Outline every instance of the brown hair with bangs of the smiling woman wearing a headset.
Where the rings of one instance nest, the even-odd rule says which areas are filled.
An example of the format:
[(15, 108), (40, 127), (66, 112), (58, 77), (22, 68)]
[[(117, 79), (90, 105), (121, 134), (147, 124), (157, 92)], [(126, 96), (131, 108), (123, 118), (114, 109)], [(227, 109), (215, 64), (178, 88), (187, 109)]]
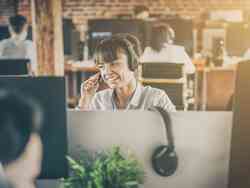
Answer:
[(118, 58), (118, 51), (121, 49), (128, 57), (129, 69), (134, 71), (138, 66), (138, 57), (133, 49), (133, 45), (122, 36), (113, 36), (102, 40), (95, 50), (95, 63), (101, 64), (102, 61), (107, 63), (115, 61)]

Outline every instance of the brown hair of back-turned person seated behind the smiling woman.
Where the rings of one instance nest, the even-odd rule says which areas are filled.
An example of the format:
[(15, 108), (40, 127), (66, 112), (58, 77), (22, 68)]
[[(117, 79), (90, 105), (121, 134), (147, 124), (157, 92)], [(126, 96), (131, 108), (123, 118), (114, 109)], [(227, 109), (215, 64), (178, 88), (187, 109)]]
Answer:
[(168, 42), (168, 39), (173, 39), (174, 34), (171, 33), (173, 29), (168, 24), (160, 24), (155, 25), (152, 28), (152, 33), (154, 34), (153, 37), (151, 37), (151, 47), (153, 50), (159, 52), (164, 47), (164, 43)]

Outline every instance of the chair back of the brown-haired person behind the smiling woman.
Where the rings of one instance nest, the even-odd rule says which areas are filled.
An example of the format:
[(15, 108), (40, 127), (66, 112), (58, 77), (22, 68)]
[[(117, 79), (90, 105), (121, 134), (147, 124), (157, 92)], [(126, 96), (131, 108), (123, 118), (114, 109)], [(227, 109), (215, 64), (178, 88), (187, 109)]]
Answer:
[(184, 64), (180, 63), (142, 63), (139, 68), (139, 80), (164, 90), (177, 110), (185, 110), (186, 76)]

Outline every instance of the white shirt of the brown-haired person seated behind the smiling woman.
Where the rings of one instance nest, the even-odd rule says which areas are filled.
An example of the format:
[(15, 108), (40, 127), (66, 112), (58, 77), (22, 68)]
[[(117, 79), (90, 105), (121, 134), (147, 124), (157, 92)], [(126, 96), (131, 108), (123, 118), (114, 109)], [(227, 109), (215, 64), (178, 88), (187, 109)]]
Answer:
[(184, 64), (184, 69), (187, 74), (195, 72), (195, 66), (188, 56), (183, 46), (164, 44), (160, 52), (154, 51), (151, 47), (146, 47), (141, 58), (141, 63), (176, 63)]

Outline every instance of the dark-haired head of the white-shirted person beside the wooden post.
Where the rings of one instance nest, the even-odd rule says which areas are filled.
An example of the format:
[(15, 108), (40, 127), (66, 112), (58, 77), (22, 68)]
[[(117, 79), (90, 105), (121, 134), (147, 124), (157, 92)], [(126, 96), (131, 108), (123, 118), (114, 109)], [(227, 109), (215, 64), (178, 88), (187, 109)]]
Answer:
[(11, 37), (17, 40), (25, 40), (28, 32), (28, 23), (25, 16), (15, 15), (9, 18), (9, 31)]

